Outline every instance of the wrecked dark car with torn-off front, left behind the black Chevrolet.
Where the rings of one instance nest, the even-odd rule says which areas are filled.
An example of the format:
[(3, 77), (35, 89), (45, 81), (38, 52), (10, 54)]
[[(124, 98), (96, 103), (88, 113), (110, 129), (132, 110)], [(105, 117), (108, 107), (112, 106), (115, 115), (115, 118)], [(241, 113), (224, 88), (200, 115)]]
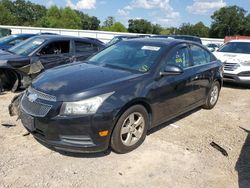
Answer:
[(46, 69), (82, 61), (103, 49), (104, 45), (88, 38), (38, 35), (0, 51), (0, 86), (3, 89), (26, 88)]

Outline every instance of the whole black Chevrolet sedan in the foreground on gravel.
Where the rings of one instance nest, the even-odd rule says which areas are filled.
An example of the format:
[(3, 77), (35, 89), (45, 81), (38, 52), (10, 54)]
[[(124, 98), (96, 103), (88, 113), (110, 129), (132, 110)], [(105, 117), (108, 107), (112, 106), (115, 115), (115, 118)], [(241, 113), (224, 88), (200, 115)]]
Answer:
[(149, 129), (199, 106), (213, 108), (222, 71), (222, 63), (198, 43), (123, 41), (86, 63), (41, 74), (21, 99), (21, 120), (35, 138), (58, 150), (111, 146), (126, 153)]

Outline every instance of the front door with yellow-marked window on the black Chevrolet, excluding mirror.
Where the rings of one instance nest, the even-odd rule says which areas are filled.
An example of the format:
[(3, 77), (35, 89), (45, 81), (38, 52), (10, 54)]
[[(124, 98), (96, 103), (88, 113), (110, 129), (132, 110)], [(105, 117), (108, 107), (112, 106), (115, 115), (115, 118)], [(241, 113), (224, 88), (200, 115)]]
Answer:
[(180, 75), (164, 76), (156, 81), (152, 93), (156, 124), (165, 122), (195, 103), (192, 83), (194, 72), (188, 45), (182, 44), (171, 50), (161, 65), (161, 71), (168, 64), (177, 65), (184, 72)]

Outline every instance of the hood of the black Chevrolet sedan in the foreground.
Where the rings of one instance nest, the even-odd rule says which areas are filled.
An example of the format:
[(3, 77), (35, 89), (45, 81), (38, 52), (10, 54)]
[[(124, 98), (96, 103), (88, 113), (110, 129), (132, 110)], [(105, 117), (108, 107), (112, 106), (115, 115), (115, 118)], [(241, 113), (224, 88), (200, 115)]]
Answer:
[(74, 63), (44, 72), (34, 80), (32, 87), (55, 96), (58, 101), (78, 101), (112, 92), (117, 83), (129, 81), (139, 75), (141, 74), (87, 63)]

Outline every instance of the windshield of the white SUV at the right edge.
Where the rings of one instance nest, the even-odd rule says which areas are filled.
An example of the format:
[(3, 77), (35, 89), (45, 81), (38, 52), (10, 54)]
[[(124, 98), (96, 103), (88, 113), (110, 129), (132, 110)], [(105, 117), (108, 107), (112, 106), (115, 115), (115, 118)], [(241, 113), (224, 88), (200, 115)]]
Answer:
[(228, 42), (218, 52), (250, 54), (250, 42)]

